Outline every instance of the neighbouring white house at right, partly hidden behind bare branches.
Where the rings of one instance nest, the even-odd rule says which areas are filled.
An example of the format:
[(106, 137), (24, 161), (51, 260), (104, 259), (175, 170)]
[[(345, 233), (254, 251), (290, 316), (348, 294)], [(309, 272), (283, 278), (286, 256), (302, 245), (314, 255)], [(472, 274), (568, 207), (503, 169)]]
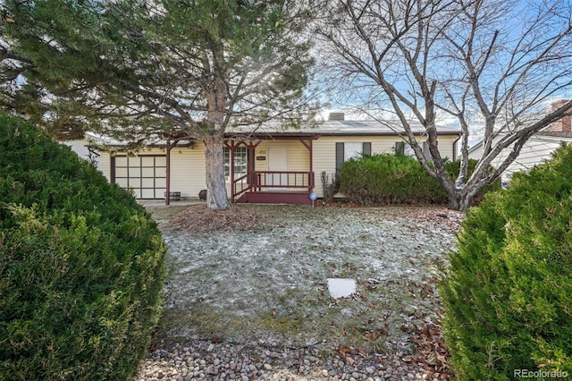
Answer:
[[(553, 105), (559, 106), (560, 103)], [(562, 143), (572, 144), (572, 123), (571, 117), (568, 115), (558, 122), (552, 123), (543, 131), (535, 133), (528, 141), (526, 141), (517, 159), (502, 173), (502, 182), (510, 182), (512, 174), (517, 172), (527, 172), (535, 165), (542, 164), (549, 160), (552, 153), (559, 148)], [(497, 136), (494, 142), (501, 140), (502, 135)], [(509, 155), (509, 150), (501, 152), (496, 157), (492, 166), (499, 165)], [(469, 149), (469, 157), (480, 159), (483, 156), (483, 143), (480, 142)]]

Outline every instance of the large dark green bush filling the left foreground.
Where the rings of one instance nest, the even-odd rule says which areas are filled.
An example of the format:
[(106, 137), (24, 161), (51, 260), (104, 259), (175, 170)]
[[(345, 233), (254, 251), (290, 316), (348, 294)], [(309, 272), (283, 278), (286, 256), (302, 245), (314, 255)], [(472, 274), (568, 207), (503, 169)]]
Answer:
[(165, 246), (128, 192), (0, 115), (0, 379), (127, 379), (160, 311)]

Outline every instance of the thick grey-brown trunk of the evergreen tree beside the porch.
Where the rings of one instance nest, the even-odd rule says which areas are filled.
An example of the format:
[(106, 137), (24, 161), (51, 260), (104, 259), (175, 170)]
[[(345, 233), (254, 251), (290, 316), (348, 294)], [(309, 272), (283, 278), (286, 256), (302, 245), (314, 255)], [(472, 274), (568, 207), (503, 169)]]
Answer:
[(224, 138), (222, 135), (208, 135), (203, 139), (206, 159), (206, 207), (228, 209), (231, 203), (226, 194), (224, 179)]

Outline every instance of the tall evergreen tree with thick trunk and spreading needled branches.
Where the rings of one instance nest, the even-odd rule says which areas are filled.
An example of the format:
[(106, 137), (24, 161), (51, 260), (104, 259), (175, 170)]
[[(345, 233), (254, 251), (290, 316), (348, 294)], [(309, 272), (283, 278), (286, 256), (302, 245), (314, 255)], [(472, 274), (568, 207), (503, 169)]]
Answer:
[[(308, 5), (309, 4), (309, 5)], [(4, 39), (29, 60), (52, 128), (134, 143), (200, 140), (207, 206), (230, 207), (224, 133), (310, 116), (311, 2), (5, 1)]]

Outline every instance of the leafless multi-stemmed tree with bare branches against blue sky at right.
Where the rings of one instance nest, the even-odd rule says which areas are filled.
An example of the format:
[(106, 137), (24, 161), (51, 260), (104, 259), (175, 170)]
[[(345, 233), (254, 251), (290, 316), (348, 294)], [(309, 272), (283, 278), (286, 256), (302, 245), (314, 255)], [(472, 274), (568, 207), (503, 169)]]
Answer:
[[(337, 0), (316, 23), (324, 66), (349, 103), (400, 121), (425, 171), (465, 210), (518, 156), (534, 133), (566, 114), (548, 105), (572, 89), (572, 9), (568, 1)], [(460, 140), (457, 179), (445, 173), (435, 123), (454, 118)], [(410, 123), (425, 127), (431, 158)], [(483, 155), (471, 176), (468, 144), (482, 127)], [(509, 150), (491, 170), (495, 157)]]

